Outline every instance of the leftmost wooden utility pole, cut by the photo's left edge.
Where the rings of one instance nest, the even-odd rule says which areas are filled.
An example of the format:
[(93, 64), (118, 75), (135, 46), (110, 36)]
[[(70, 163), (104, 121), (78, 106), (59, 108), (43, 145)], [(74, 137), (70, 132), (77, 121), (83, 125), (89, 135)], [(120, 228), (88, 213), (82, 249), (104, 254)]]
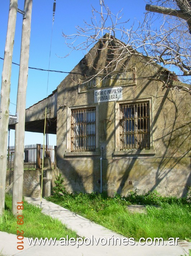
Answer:
[(10, 0), (7, 35), (5, 42), (5, 53), (1, 81), (0, 102), (0, 216), (5, 209), (5, 186), (7, 167), (7, 137), (9, 125), (9, 103), (10, 103), (10, 79), (13, 56), (13, 45), (15, 36), (15, 24), (17, 18), (17, 0)]

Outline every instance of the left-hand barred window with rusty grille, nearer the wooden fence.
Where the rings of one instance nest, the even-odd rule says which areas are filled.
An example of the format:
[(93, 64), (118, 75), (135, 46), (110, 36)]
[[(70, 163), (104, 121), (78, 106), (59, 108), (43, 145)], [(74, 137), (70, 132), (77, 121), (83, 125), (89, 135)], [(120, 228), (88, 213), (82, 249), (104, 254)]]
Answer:
[(95, 108), (71, 111), (71, 151), (95, 151)]

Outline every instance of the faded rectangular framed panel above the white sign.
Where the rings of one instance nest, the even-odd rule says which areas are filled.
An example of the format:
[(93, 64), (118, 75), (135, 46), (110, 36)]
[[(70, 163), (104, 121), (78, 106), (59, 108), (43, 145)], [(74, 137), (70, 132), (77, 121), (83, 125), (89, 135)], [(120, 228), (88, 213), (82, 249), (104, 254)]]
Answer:
[(125, 85), (135, 85), (135, 69), (126, 70), (125, 72), (115, 72), (107, 76), (99, 74), (92, 77), (82, 77), (79, 79), (78, 92)]

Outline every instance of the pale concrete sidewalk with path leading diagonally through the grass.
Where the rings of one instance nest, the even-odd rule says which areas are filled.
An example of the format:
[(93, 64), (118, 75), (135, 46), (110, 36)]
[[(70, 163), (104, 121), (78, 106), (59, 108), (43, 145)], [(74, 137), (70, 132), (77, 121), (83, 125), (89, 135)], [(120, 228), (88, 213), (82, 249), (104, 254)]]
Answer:
[[(40, 199), (25, 197), (25, 199), (32, 204), (40, 206)], [(69, 210), (58, 206), (52, 202), (42, 199), (42, 212), (46, 215), (50, 215), (53, 218), (59, 219), (63, 224), (66, 224), (68, 228), (76, 231), (79, 237), (90, 238), (91, 243), (89, 245), (79, 245), (77, 248), (75, 245), (61, 245), (58, 241), (54, 245), (29, 245), (27, 238), (24, 238), (24, 249), (17, 250), (17, 236), (0, 232), (0, 255), (12, 256), (12, 255), (24, 255), (24, 256), (59, 256), (59, 255), (75, 255), (75, 256), (94, 256), (94, 255), (111, 255), (111, 256), (180, 256), (188, 255), (188, 250), (191, 249), (191, 243), (186, 241), (179, 242), (178, 245), (169, 245), (168, 241), (164, 241), (164, 245), (141, 245), (139, 242), (135, 242), (134, 245), (123, 245), (123, 236), (108, 230), (101, 225), (95, 224), (82, 216), (79, 216)], [(92, 237), (93, 235), (93, 237)], [(103, 239), (102, 239), (103, 238)], [(110, 245), (104, 244), (108, 238), (110, 239)], [(112, 245), (112, 239), (121, 239), (121, 245), (119, 239), (117, 244)], [(54, 238), (53, 238), (54, 239)], [(94, 240), (93, 240), (94, 239)], [(96, 242), (98, 241), (96, 245)], [(93, 245), (92, 245), (93, 240)], [(125, 240), (126, 241), (126, 240)], [(79, 242), (81, 242), (79, 240)], [(86, 240), (88, 243), (89, 240)]]

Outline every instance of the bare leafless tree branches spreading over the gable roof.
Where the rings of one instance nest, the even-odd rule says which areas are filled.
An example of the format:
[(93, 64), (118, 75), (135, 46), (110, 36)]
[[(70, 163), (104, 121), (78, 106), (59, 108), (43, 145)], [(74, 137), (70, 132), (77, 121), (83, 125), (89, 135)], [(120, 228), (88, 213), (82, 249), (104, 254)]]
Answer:
[[(108, 58), (104, 66), (93, 66), (97, 71), (96, 75), (103, 75), (102, 79), (122, 67), (125, 70), (125, 63), (130, 62), (131, 56), (134, 55), (146, 61), (145, 65), (158, 63), (171, 71), (164, 69), (163, 74), (154, 75), (150, 79), (161, 81), (163, 87), (191, 93), (190, 85), (188, 85), (191, 75), (191, 36), (188, 29), (188, 26), (190, 28), (188, 19), (190, 1), (187, 1), (187, 7), (184, 6), (184, 9), (181, 7), (181, 14), (184, 13), (184, 18), (180, 17), (180, 12), (177, 11), (177, 4), (182, 6), (183, 0), (177, 0), (177, 4), (173, 0), (156, 1), (157, 4), (159, 2), (160, 9), (163, 8), (162, 6), (166, 9), (168, 6), (168, 10), (171, 9), (167, 16), (148, 11), (144, 21), (130, 25), (129, 20), (121, 21), (121, 11), (113, 14), (102, 0), (102, 11), (92, 7), (91, 22), (84, 21), (84, 27), (77, 26), (77, 31), (73, 35), (63, 34), (66, 44), (71, 50), (87, 50), (87, 52), (93, 45), (97, 53), (101, 49), (107, 49), (112, 58)], [(151, 10), (152, 6), (149, 6)], [(172, 9), (178, 14), (172, 16)], [(96, 54), (94, 51), (92, 53)], [(85, 82), (90, 79), (92, 76), (87, 77)], [(182, 82), (188, 84), (185, 85)]]

